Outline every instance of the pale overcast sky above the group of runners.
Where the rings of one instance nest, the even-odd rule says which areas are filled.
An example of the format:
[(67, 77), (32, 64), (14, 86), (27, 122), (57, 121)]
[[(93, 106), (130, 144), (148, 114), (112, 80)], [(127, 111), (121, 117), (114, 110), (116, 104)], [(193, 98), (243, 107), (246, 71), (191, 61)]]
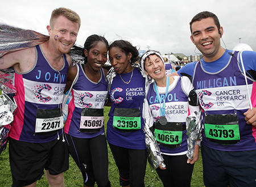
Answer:
[(80, 15), (76, 44), (82, 46), (86, 37), (98, 34), (110, 43), (128, 40), (141, 50), (149, 46), (162, 54), (199, 53), (189, 38), (189, 22), (197, 13), (208, 10), (218, 16), (224, 28), (222, 39), (226, 48), (233, 49), (241, 37), (242, 43), (256, 51), (255, 0), (5, 0), (0, 6), (0, 23), (48, 35), (46, 26), (51, 12), (59, 7), (70, 8)]

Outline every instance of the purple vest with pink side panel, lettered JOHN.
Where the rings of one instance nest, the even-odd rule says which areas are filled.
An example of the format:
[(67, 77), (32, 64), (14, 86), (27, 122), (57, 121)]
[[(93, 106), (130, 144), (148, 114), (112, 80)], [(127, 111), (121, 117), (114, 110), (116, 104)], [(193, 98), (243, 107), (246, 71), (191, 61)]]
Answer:
[(18, 90), (14, 99), (18, 109), (10, 137), (24, 142), (43, 143), (56, 139), (57, 132), (51, 135), (35, 134), (36, 113), (38, 109), (60, 108), (69, 65), (64, 54), (63, 68), (57, 71), (49, 65), (40, 45), (36, 45), (35, 49), (35, 67), (27, 73), (15, 73), (14, 76), (14, 86)]

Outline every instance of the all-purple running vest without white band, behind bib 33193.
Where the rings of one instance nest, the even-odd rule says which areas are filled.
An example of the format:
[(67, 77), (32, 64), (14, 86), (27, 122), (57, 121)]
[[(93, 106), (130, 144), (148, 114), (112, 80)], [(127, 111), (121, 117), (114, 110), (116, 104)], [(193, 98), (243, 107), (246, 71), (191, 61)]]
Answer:
[[(131, 72), (121, 74), (122, 79), (131, 82), (123, 83), (119, 74), (116, 74), (110, 87), (110, 99), (112, 107), (109, 112), (108, 128), (106, 131), (108, 142), (120, 147), (142, 150), (146, 148), (145, 135), (143, 132), (144, 121), (142, 118), (145, 79), (141, 72), (134, 68), (133, 77)], [(123, 132), (113, 128), (113, 116), (115, 108), (135, 108), (141, 111), (141, 129), (133, 132)], [(124, 114), (125, 115), (125, 114)]]

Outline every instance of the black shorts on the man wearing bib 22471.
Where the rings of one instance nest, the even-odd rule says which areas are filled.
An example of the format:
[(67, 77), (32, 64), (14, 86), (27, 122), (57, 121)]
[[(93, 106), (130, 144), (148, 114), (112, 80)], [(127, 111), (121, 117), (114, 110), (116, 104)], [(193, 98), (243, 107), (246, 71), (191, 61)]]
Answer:
[(44, 169), (51, 175), (68, 170), (67, 143), (57, 139), (47, 143), (30, 143), (10, 138), (9, 159), (13, 186), (26, 186), (39, 180)]

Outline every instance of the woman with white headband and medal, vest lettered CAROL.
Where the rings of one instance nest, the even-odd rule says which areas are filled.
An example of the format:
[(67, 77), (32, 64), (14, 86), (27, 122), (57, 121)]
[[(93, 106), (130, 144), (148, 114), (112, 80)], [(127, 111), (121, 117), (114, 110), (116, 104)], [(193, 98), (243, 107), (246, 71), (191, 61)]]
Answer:
[(199, 158), (199, 145), (192, 160), (186, 156), (185, 120), (189, 112), (199, 111), (197, 98), (188, 102), (193, 86), (186, 76), (167, 76), (159, 52), (143, 54), (141, 66), (154, 80), (146, 89), (143, 109), (149, 162), (164, 186), (190, 186), (193, 164)]

